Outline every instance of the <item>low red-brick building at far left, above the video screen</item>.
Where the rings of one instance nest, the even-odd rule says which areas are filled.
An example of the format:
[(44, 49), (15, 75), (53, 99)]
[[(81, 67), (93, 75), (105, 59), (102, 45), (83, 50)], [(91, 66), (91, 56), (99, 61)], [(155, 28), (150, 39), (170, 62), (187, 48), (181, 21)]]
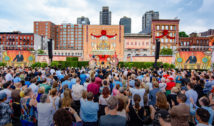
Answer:
[(0, 45), (3, 50), (33, 50), (34, 34), (21, 32), (0, 32)]

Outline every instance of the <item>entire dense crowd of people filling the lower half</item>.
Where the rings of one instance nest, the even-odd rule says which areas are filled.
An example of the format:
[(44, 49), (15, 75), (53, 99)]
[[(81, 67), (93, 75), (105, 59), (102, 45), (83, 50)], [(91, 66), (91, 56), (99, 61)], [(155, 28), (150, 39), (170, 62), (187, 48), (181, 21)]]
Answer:
[(0, 68), (0, 126), (211, 126), (212, 71)]

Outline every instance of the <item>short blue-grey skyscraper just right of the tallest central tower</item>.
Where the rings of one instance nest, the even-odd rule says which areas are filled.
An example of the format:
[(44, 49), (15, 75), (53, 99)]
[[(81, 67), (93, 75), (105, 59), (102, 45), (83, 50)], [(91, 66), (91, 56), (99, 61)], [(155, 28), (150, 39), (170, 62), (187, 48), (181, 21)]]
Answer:
[(131, 33), (131, 18), (124, 16), (120, 18), (120, 25), (124, 25), (124, 33)]

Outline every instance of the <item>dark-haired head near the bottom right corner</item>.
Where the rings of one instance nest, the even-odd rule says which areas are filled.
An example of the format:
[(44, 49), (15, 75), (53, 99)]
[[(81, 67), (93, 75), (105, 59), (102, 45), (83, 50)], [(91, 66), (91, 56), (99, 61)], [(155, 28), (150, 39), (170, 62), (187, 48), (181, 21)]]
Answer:
[(210, 119), (210, 113), (206, 109), (198, 108), (196, 110), (196, 118), (207, 123)]

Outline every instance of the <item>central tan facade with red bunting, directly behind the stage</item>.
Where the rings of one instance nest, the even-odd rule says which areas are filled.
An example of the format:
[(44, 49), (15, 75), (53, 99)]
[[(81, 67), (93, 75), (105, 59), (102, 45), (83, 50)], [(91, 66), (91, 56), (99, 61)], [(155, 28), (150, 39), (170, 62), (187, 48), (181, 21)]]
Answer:
[(95, 59), (96, 65), (109, 65), (112, 61), (123, 61), (124, 26), (84, 25), (83, 57), (85, 61)]

